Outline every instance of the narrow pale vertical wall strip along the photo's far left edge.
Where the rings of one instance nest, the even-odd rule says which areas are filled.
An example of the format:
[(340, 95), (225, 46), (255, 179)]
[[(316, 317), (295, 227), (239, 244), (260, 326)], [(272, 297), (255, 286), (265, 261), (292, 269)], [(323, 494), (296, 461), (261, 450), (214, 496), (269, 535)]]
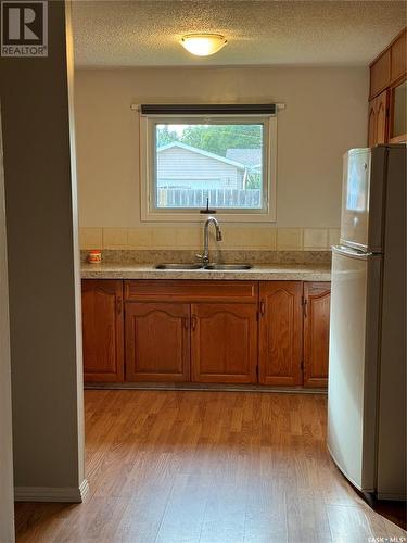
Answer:
[(0, 542), (14, 541), (9, 282), (0, 118)]

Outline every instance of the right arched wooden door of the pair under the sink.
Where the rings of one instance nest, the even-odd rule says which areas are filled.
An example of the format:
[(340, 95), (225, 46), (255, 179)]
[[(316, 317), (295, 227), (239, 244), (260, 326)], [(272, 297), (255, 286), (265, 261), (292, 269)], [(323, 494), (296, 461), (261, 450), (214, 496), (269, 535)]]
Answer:
[(257, 381), (255, 304), (192, 304), (191, 338), (192, 381)]

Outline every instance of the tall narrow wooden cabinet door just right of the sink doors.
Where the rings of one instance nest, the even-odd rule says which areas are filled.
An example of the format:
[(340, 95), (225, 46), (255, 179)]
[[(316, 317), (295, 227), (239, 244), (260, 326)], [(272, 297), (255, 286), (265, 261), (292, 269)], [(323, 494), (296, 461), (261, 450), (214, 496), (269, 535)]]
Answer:
[(302, 281), (262, 281), (258, 380), (302, 384)]

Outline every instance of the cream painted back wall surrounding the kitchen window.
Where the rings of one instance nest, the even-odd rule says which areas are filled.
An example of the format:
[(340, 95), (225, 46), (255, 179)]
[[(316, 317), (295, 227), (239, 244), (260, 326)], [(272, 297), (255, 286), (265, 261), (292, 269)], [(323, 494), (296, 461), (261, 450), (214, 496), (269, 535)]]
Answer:
[(342, 155), (366, 144), (367, 68), (78, 70), (75, 90), (81, 227), (151, 226), (140, 223), (131, 103), (270, 100), (287, 103), (278, 116), (274, 226), (339, 227)]

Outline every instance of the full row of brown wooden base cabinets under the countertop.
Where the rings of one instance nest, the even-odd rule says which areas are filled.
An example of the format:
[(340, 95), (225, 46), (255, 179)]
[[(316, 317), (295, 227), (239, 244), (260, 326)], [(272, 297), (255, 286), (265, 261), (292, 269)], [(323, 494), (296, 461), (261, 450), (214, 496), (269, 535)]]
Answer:
[(85, 381), (326, 387), (329, 299), (328, 282), (84, 280)]

